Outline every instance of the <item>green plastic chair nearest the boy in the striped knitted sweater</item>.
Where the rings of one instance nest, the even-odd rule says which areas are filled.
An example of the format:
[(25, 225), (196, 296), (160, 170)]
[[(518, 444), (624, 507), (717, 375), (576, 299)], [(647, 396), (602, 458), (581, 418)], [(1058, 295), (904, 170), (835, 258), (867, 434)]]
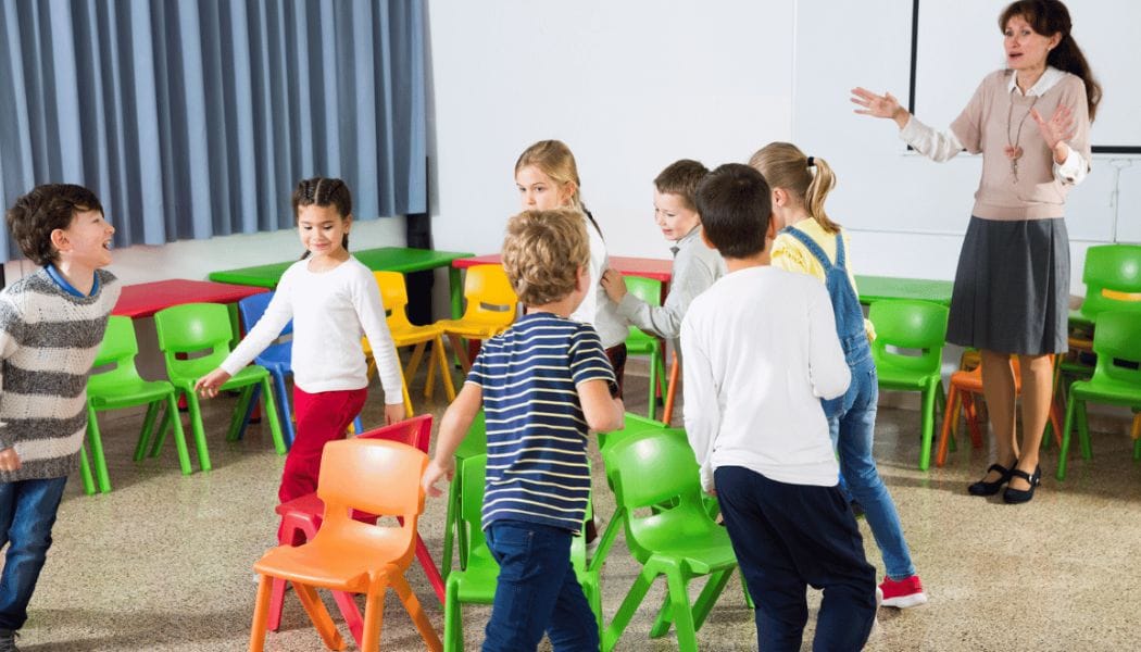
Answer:
[[(113, 367), (92, 372), (87, 381), (87, 440), (95, 458), (95, 476), (99, 484), (99, 491), (103, 493), (111, 491), (111, 477), (107, 474), (107, 460), (103, 453), (103, 435), (99, 432), (98, 412), (135, 405), (147, 407), (146, 417), (143, 419), (143, 429), (139, 432), (138, 445), (135, 448), (135, 461), (143, 459), (162, 404), (165, 403), (167, 412), (160, 428), (165, 429), (171, 421), (171, 414), (178, 414), (175, 386), (165, 380), (152, 381), (139, 377), (138, 369), (135, 367), (135, 357), (138, 353), (139, 345), (135, 339), (135, 324), (130, 317), (112, 316), (108, 319), (107, 330), (103, 335), (99, 352), (95, 355), (92, 369)], [(189, 474), (191, 458), (186, 450), (183, 424), (180, 420), (173, 419), (173, 426), (178, 462), (183, 468), (183, 474)], [(84, 467), (88, 467), (87, 451), (83, 451), (81, 457), (81, 476), (83, 492), (90, 496), (95, 493), (95, 486), (91, 482), (90, 470), (86, 474), (82, 473)]]

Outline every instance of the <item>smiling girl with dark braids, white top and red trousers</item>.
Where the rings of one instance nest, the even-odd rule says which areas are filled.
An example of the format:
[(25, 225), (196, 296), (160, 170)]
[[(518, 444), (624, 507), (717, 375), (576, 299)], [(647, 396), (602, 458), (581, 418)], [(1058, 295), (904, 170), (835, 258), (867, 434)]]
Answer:
[(305, 179), (293, 191), (305, 253), (282, 274), (261, 320), (221, 365), (194, 388), (215, 396), (293, 320), (293, 409), (297, 438), (285, 458), (277, 498), (317, 490), (321, 451), (345, 436), (369, 395), (361, 331), (369, 336), (385, 388), (385, 422), (404, 419), (399, 360), (372, 272), (348, 252), (353, 198), (340, 179)]

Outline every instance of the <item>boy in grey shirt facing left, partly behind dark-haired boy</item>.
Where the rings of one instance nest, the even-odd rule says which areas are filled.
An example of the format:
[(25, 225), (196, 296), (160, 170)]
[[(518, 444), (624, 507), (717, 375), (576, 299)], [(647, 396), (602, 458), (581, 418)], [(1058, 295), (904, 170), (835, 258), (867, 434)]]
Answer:
[(663, 305), (650, 306), (626, 292), (626, 282), (617, 269), (607, 269), (602, 275), (602, 288), (617, 304), (618, 315), (647, 332), (673, 340), (674, 351), (689, 303), (726, 271), (725, 259), (702, 239), (702, 216), (694, 201), (697, 184), (707, 172), (697, 161), (682, 159), (654, 179), (654, 220), (666, 240), (674, 241), (670, 248), (673, 251), (670, 293)]

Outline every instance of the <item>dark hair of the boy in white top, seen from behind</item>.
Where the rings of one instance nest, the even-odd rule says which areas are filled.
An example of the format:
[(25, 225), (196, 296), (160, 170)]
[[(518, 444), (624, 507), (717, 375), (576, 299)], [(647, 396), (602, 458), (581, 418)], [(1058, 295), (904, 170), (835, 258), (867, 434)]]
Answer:
[(726, 163), (697, 186), (697, 212), (705, 238), (726, 258), (747, 258), (764, 251), (772, 217), (772, 198), (760, 172), (742, 163)]

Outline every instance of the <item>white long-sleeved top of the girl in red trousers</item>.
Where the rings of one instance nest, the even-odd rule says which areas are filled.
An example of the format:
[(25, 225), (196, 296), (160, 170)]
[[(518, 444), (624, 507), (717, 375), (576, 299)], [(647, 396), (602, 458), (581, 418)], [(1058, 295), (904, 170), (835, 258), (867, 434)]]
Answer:
[(404, 401), (400, 368), (388, 331), (380, 288), (372, 271), (349, 257), (327, 272), (298, 260), (282, 274), (265, 315), (234, 348), (221, 368), (234, 375), (250, 363), (293, 320), (293, 383), (310, 394), (369, 386), (361, 347), (369, 337), (385, 403)]

